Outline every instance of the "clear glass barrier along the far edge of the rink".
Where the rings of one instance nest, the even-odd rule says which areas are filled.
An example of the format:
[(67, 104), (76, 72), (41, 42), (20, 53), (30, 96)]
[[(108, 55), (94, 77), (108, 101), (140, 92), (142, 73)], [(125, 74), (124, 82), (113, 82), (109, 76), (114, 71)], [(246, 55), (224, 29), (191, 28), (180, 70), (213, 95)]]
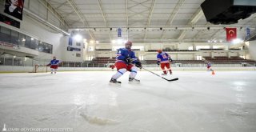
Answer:
[[(0, 56), (0, 66), (45, 66), (49, 64), (50, 60), (34, 60), (32, 58), (22, 58), (22, 57), (2, 57)], [(86, 62), (62, 62), (59, 64), (60, 67), (110, 67), (114, 62), (106, 63), (94, 63), (92, 61)], [(142, 66), (145, 67), (158, 67), (155, 64), (146, 64), (145, 61), (142, 61)], [(172, 62), (172, 67), (205, 67), (205, 63), (193, 63), (193, 62)], [(215, 67), (234, 67), (234, 66), (256, 66), (256, 62), (243, 62), (243, 63), (212, 63), (212, 66)]]

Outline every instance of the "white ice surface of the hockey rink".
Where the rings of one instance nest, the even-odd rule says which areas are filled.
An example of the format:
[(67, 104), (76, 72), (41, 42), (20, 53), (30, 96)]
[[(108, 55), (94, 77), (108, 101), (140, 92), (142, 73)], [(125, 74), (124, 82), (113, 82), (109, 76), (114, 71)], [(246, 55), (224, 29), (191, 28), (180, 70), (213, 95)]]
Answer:
[[(160, 71), (155, 71), (160, 74)], [(115, 71), (0, 74), (0, 129), (74, 132), (255, 132), (256, 71), (147, 71), (109, 85)]]

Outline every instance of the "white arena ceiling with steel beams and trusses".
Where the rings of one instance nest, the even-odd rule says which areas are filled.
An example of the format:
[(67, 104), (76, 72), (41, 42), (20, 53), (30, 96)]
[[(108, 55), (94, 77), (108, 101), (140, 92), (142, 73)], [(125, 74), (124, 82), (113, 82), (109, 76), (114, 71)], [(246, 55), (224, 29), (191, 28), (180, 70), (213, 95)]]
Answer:
[[(65, 30), (80, 32), (100, 43), (123, 39), (133, 42), (222, 42), (225, 27), (237, 27), (244, 39), (246, 27), (255, 31), (256, 15), (234, 25), (206, 22), (204, 0), (46, 0), (65, 23)], [(118, 37), (118, 28), (122, 37)]]

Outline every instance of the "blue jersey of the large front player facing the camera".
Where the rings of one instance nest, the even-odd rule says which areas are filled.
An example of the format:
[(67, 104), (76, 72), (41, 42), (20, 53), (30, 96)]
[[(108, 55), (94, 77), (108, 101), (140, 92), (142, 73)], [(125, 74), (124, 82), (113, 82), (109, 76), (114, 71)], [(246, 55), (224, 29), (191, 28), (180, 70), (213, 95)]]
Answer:
[(128, 50), (126, 48), (118, 49), (117, 57), (115, 58), (115, 62), (126, 62), (126, 58), (133, 58), (132, 63), (138, 62), (137, 58), (135, 57), (135, 53), (133, 50)]

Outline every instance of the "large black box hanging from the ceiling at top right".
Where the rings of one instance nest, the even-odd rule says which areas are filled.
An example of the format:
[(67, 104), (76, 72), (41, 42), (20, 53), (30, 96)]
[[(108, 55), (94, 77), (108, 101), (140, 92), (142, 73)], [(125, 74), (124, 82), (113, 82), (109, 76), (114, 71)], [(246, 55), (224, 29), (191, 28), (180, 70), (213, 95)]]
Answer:
[(206, 0), (201, 8), (207, 22), (234, 24), (256, 12), (255, 0)]

